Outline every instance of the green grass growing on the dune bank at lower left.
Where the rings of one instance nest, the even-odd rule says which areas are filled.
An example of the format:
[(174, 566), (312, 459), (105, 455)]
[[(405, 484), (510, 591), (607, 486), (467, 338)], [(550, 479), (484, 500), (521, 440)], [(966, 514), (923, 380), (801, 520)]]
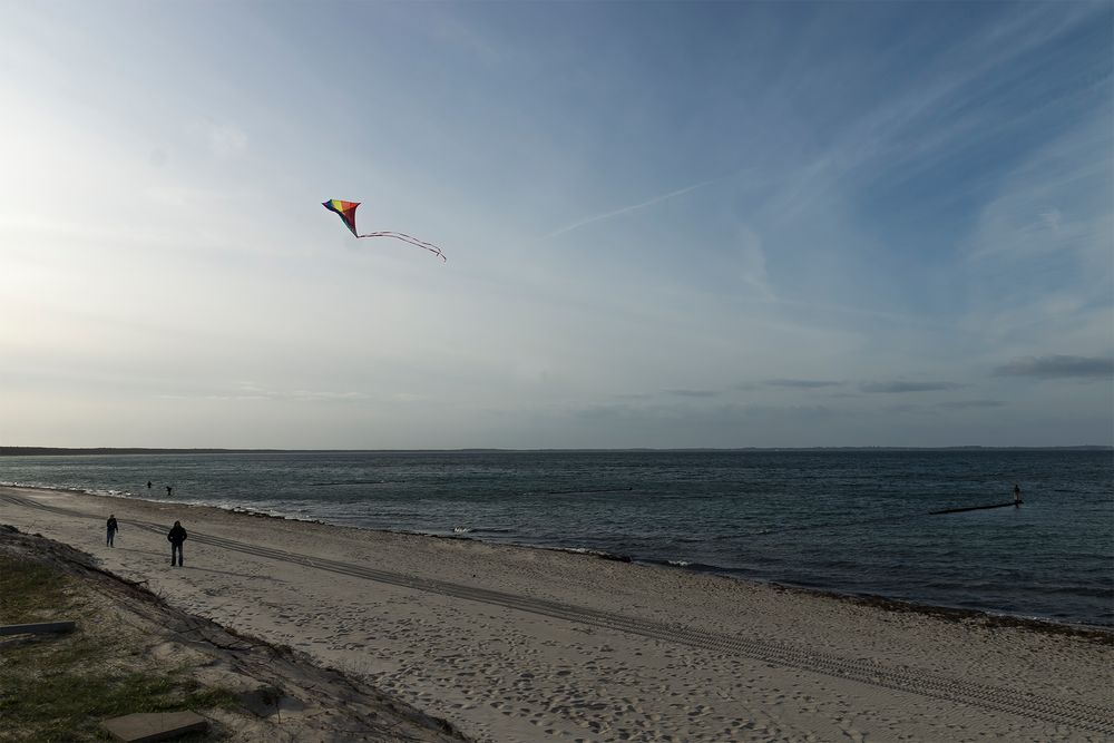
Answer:
[[(0, 555), (4, 624), (87, 617), (96, 607), (82, 590), (61, 571)], [(0, 741), (105, 741), (99, 723), (110, 717), (240, 706), (231, 691), (201, 686), (190, 666), (154, 666), (146, 649), (121, 645), (110, 629), (90, 636), (81, 623), (69, 635), (0, 644)]]

